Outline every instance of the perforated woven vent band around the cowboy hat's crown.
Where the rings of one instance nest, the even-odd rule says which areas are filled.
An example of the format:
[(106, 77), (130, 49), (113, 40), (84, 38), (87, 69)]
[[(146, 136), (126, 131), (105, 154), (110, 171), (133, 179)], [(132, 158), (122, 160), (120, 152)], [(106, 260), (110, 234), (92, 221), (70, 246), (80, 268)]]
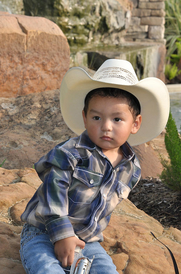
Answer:
[(129, 70), (120, 67), (102, 68), (95, 73), (93, 78), (95, 80), (101, 80), (105, 78), (119, 78), (129, 82), (132, 85), (138, 82), (136, 77)]

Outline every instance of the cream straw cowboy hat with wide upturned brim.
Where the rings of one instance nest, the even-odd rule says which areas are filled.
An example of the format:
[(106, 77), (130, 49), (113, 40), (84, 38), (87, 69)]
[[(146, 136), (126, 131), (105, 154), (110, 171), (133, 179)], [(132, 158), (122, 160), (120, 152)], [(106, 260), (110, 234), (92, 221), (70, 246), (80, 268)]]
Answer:
[(136, 134), (130, 134), (128, 142), (136, 146), (158, 136), (166, 126), (169, 116), (169, 93), (166, 85), (157, 78), (138, 81), (128, 61), (108, 59), (90, 77), (84, 69), (75, 67), (66, 72), (60, 87), (60, 107), (66, 125), (76, 134), (84, 130), (82, 110), (90, 90), (114, 87), (132, 93), (140, 103), (142, 124)]

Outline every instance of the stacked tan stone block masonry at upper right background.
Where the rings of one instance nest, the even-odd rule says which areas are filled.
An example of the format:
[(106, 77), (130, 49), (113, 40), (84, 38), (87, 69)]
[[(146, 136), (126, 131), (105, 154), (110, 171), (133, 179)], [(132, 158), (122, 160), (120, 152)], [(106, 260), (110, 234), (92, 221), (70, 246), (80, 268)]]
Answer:
[(127, 41), (155, 40), (165, 44), (165, 0), (133, 1)]

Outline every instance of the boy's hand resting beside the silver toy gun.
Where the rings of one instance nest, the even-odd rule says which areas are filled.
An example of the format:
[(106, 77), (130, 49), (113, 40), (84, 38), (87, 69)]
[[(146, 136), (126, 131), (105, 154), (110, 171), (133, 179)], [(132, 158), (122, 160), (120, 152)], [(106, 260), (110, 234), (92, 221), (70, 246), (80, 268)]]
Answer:
[(77, 237), (68, 237), (56, 241), (54, 246), (55, 256), (62, 263), (63, 267), (71, 266), (74, 260), (75, 247), (79, 246), (84, 249), (85, 242), (79, 240)]

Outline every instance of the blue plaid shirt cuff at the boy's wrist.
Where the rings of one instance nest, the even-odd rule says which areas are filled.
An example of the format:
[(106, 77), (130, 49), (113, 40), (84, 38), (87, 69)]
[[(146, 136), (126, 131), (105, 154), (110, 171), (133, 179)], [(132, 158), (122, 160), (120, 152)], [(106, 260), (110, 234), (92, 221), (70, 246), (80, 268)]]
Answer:
[(75, 236), (72, 224), (68, 216), (58, 217), (58, 216), (48, 216), (49, 218), (45, 220), (45, 227), (49, 233), (50, 239), (54, 244), (64, 238)]

